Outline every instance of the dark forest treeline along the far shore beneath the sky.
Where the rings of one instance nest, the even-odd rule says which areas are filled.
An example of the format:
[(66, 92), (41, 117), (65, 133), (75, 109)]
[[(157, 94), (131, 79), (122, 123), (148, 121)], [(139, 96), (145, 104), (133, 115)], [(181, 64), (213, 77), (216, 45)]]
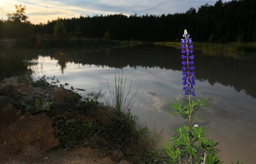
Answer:
[[(170, 6), (171, 7), (171, 6)], [(25, 10), (25, 9), (24, 9)], [(10, 13), (9, 13), (10, 14)], [(23, 11), (25, 14), (25, 11)], [(106, 38), (111, 40), (180, 41), (184, 29), (196, 42), (255, 42), (256, 0), (232, 0), (168, 15), (80, 16), (32, 24), (23, 15), (0, 20), (0, 39)]]

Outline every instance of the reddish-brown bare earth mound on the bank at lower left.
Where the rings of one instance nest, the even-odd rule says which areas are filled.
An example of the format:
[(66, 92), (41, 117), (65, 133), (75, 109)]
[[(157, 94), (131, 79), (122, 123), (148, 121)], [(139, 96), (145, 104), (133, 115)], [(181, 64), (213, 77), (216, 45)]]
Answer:
[(59, 144), (53, 132), (52, 119), (45, 114), (20, 116), (11, 125), (1, 130), (0, 141), (1, 144), (5, 143), (5, 146), (14, 149), (32, 145), (42, 150), (49, 150)]

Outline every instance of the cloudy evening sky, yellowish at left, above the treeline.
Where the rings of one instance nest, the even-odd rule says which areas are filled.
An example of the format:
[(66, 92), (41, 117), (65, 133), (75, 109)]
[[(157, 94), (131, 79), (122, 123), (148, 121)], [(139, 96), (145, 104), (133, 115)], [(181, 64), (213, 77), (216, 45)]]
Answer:
[[(191, 7), (214, 5), (217, 0), (0, 0), (0, 19), (15, 12), (15, 5), (26, 6), (26, 16), (32, 24), (47, 23), (59, 18), (107, 16), (120, 14), (156, 15), (185, 13)], [(222, 0), (228, 2), (231, 0)]]

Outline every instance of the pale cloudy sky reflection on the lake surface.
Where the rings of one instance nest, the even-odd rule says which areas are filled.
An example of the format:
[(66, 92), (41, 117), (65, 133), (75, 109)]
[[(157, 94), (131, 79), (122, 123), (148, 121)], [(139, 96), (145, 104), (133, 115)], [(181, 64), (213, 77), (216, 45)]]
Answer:
[[(107, 81), (110, 88), (114, 89), (115, 73), (118, 74), (118, 70), (107, 66), (81, 65), (72, 62), (66, 63), (65, 72), (62, 74), (60, 67), (56, 66), (56, 60), (39, 57), (38, 61), (43, 61), (41, 72), (46, 73), (48, 77), (56, 76), (62, 84), (69, 83), (68, 89), (70, 86), (88, 91), (92, 90), (92, 87), (95, 90), (101, 88), (103, 92), (107, 91), (106, 96), (109, 96)], [(131, 94), (135, 93), (140, 86), (132, 114), (139, 116), (141, 123), (146, 120), (151, 128), (156, 122), (159, 129), (165, 130), (164, 139), (171, 137), (170, 131), (173, 126), (184, 123), (182, 118), (167, 115), (172, 112), (171, 103), (187, 100), (182, 90), (181, 72), (160, 68), (145, 69), (139, 66), (125, 67), (120, 70), (121, 74), (122, 72), (124, 77), (127, 76), (127, 86), (132, 81)], [(256, 106), (255, 98), (246, 95), (243, 90), (238, 92), (230, 86), (219, 83), (210, 85), (207, 80), (197, 81), (195, 87), (199, 98), (212, 97), (209, 102), (212, 106), (201, 110), (197, 116), (201, 120), (199, 126), (201, 124), (208, 127), (207, 135), (214, 141), (219, 141), (218, 148), (225, 152), (219, 153), (219, 156), (227, 163), (234, 161), (231, 155), (239, 156), (240, 159), (237, 160), (244, 162), (246, 158), (252, 157), (256, 152), (256, 111), (253, 110)], [(197, 99), (197, 96), (194, 99)], [(241, 140), (243, 142), (239, 142)], [(251, 143), (253, 141), (254, 145)], [(247, 155), (243, 150), (249, 150)]]

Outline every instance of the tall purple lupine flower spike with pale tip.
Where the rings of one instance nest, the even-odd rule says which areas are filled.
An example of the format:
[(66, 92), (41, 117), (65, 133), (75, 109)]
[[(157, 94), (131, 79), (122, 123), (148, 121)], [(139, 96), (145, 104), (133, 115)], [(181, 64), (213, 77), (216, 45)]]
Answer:
[(182, 75), (183, 75), (183, 82), (184, 85), (183, 90), (185, 91), (185, 95), (193, 95), (195, 96), (195, 89), (194, 85), (196, 85), (195, 80), (195, 71), (193, 71), (196, 67), (194, 66), (193, 59), (195, 58), (194, 55), (192, 55), (193, 51), (193, 45), (192, 45), (192, 38), (190, 38), (190, 35), (187, 34), (187, 30), (184, 30), (183, 34), (184, 39), (181, 39), (181, 58), (184, 60), (181, 62), (182, 64)]

